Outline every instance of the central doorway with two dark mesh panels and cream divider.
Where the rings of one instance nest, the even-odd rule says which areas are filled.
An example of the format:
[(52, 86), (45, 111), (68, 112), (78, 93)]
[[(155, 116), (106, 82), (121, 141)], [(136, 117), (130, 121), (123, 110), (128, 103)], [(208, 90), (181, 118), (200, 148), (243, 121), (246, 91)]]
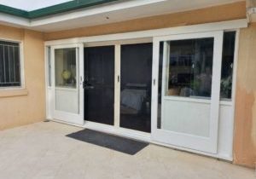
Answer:
[(153, 43), (84, 48), (84, 120), (151, 131), (152, 50)]

